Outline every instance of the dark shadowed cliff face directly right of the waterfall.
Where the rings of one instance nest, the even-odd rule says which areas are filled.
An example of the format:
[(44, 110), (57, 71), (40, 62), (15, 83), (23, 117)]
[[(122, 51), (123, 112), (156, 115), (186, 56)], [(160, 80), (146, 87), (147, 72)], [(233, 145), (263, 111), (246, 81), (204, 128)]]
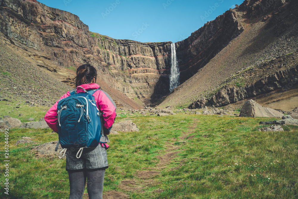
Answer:
[(177, 42), (177, 59), (181, 82), (186, 81), (206, 65), (229, 42), (243, 32), (235, 10), (228, 10), (206, 23), (183, 41)]

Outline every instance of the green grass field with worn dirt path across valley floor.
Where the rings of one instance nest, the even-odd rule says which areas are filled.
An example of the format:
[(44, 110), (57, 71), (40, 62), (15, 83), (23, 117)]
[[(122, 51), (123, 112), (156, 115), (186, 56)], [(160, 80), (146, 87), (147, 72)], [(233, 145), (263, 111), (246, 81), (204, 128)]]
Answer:
[[(39, 118), (44, 107), (34, 108), (28, 107), (30, 117)], [(259, 132), (259, 122), (271, 118), (182, 113), (116, 122), (125, 119), (140, 131), (109, 136), (104, 198), (297, 198), (297, 126)], [(51, 132), (9, 129), (9, 177), (4, 176), (1, 133), (1, 198), (68, 198), (65, 159), (37, 158), (31, 151), (33, 145), (58, 140)], [(15, 146), (22, 136), (37, 144)], [(5, 178), (9, 195), (4, 194)]]

